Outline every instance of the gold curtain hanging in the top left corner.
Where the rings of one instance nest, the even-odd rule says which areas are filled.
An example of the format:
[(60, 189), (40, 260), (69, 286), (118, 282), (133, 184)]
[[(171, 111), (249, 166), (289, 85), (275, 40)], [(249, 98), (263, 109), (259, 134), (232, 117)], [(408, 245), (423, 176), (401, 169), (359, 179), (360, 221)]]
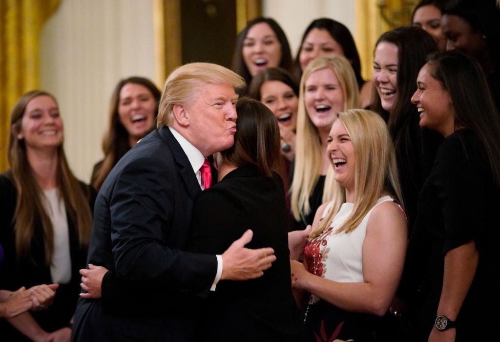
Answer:
[(10, 110), (38, 87), (38, 38), (60, 0), (0, 0), (0, 172), (8, 168)]

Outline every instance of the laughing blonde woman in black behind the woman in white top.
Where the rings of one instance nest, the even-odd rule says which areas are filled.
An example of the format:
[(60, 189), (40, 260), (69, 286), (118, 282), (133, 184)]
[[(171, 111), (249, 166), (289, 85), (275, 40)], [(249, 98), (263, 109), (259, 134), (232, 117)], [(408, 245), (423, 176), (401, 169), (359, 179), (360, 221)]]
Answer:
[(347, 59), (325, 55), (307, 65), (300, 80), (291, 172), (293, 230), (311, 224), (318, 206), (331, 199), (333, 170), (325, 152), (328, 132), (338, 112), (358, 107), (356, 77)]

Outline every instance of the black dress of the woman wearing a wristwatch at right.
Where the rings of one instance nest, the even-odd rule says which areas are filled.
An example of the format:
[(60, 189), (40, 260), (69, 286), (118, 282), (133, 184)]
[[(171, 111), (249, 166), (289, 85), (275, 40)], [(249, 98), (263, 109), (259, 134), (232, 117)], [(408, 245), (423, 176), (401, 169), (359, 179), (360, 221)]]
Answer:
[[(418, 216), (405, 265), (406, 299), (417, 340), (427, 340), (442, 289), (444, 255), (470, 240), (479, 251), (472, 284), (456, 318), (456, 340), (494, 340), (500, 304), (496, 253), (500, 191), (493, 183), (484, 146), (469, 129), (439, 147), (418, 198)], [(490, 335), (492, 334), (492, 335)]]

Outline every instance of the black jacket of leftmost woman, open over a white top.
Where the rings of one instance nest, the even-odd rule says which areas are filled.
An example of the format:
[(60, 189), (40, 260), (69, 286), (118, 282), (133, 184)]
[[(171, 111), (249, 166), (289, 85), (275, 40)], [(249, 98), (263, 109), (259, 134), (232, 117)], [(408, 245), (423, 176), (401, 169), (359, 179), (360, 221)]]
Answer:
[[(9, 177), (9, 171), (0, 174), (0, 244), (4, 249), (4, 264), (0, 273), (0, 288), (16, 290), (21, 286), (26, 288), (41, 283), (52, 283), (50, 266), (44, 265), (45, 248), (43, 245), (43, 226), (41, 218), (34, 215), (34, 236), (31, 240), (30, 256), (16, 259), (15, 235), (13, 217), (16, 203), (16, 190)], [(91, 189), (80, 183), (82, 190), (90, 196), (93, 207), (94, 193)], [(69, 231), (69, 252), (71, 257), (71, 280), (67, 284), (59, 284), (55, 291), (53, 303), (45, 310), (31, 311), (33, 318), (45, 331), (54, 331), (69, 324), (76, 307), (78, 293), (80, 292), (80, 268), (85, 267), (86, 249), (79, 246), (78, 233), (75, 224), (67, 215)], [(5, 320), (0, 320), (2, 341), (28, 340)]]

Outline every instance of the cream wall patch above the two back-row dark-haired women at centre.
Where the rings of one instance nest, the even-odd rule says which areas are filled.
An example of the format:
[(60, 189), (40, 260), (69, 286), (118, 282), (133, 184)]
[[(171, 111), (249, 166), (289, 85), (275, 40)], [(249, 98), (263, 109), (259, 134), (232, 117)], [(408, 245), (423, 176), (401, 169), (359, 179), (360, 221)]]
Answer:
[(283, 28), (295, 56), (305, 27), (316, 18), (340, 21), (355, 36), (354, 4), (353, 0), (263, 0), (262, 12)]

